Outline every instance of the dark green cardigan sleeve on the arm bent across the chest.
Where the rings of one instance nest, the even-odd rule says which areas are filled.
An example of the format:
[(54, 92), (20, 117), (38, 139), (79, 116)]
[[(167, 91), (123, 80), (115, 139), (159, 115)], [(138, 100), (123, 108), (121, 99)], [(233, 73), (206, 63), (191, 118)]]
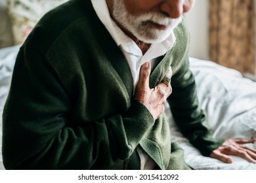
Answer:
[(125, 114), (81, 125), (70, 121), (70, 99), (40, 52), (21, 48), (3, 112), (6, 169), (106, 169), (131, 156), (154, 125), (136, 101)]

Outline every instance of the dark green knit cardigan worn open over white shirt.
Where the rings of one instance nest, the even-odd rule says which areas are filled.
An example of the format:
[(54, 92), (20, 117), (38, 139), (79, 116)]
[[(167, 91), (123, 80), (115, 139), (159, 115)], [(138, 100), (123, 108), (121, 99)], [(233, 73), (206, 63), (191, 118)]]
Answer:
[[(221, 145), (199, 108), (188, 65), (184, 22), (177, 42), (150, 75), (158, 85), (171, 65), (168, 102), (182, 133), (203, 155)], [(140, 145), (160, 169), (188, 169), (171, 143), (165, 114), (158, 120), (134, 101), (133, 78), (91, 1), (54, 8), (20, 48), (3, 112), (6, 169), (140, 169)]]

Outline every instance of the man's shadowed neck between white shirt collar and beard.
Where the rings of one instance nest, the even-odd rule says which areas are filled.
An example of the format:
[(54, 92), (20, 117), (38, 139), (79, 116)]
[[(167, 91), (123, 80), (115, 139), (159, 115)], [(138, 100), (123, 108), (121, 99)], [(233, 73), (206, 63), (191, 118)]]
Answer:
[(114, 20), (114, 22), (116, 23), (116, 25), (118, 27), (120, 27), (120, 29), (128, 36), (130, 37), (131, 39), (133, 39), (133, 41), (137, 44), (137, 46), (139, 46), (140, 50), (142, 51), (142, 54), (144, 55), (148, 49), (150, 48), (150, 45), (149, 43), (146, 43), (146, 42), (143, 42), (143, 41), (140, 41), (139, 39), (137, 39), (137, 37), (135, 37), (133, 35), (133, 33), (131, 33), (130, 31), (128, 31), (125, 27), (123, 27), (123, 25), (119, 24), (119, 22), (114, 18), (113, 16), (113, 1), (109, 1), (109, 0), (106, 0), (106, 3), (108, 5), (108, 10), (110, 12), (110, 16), (112, 18), (112, 20)]

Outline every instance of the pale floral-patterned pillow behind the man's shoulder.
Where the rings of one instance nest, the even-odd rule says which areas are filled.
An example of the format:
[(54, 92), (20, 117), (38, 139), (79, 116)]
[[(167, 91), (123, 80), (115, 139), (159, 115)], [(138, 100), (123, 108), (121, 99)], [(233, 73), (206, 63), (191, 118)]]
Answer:
[(38, 20), (68, 0), (7, 0), (14, 44), (22, 44)]

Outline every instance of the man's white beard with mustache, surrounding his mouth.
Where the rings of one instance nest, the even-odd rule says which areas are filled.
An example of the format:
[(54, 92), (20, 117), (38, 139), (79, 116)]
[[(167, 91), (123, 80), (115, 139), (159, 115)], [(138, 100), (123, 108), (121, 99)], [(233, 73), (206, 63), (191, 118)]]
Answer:
[[(165, 41), (182, 20), (181, 17), (167, 18), (160, 12), (147, 12), (140, 16), (133, 16), (128, 14), (122, 0), (114, 0), (113, 16), (119, 24), (133, 33), (137, 39), (146, 43)], [(167, 25), (167, 29), (161, 30), (152, 27), (148, 21), (159, 25)]]

